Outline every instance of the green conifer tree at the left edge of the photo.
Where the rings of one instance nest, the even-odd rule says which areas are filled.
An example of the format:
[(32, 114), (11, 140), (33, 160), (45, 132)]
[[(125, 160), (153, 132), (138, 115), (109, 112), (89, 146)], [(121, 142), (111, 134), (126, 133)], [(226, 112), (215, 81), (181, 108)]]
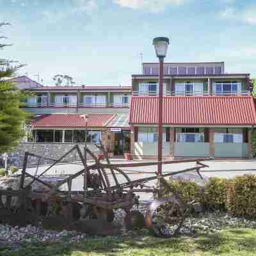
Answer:
[[(7, 25), (9, 24), (0, 22), (0, 28)], [(2, 40), (4, 38), (0, 37)], [(0, 50), (6, 46), (8, 44), (0, 44)], [(10, 152), (24, 136), (22, 126), (29, 114), (20, 109), (20, 106), (28, 93), (20, 92), (10, 81), (22, 66), (17, 65), (16, 61), (0, 59), (0, 154)]]

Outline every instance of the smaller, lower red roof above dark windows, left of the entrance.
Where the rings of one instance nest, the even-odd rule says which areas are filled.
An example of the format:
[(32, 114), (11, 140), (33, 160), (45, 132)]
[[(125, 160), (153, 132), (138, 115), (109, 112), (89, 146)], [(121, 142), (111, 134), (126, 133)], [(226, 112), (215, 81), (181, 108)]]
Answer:
[[(33, 128), (84, 128), (83, 116), (72, 114), (52, 114), (36, 116), (31, 121)], [(88, 115), (88, 127), (105, 127), (115, 115), (90, 114)]]

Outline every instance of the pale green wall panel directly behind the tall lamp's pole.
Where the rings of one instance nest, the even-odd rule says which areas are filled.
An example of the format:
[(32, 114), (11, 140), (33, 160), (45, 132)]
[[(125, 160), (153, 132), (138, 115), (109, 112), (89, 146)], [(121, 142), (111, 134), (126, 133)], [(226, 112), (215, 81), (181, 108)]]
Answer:
[[(157, 156), (157, 143), (135, 142), (135, 156)], [(170, 143), (163, 142), (163, 156), (170, 156)]]

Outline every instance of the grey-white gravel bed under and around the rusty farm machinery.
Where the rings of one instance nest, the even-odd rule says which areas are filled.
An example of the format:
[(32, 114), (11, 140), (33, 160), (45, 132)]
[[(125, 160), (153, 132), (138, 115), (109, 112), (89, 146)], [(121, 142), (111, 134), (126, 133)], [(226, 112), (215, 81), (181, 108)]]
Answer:
[[(145, 214), (149, 201), (143, 202), (134, 210)], [(114, 223), (122, 226), (120, 236), (147, 236), (148, 230), (127, 231), (124, 228), (125, 212), (122, 210), (115, 211)], [(215, 212), (211, 214), (199, 214), (198, 216), (189, 216), (180, 228), (180, 235), (195, 236), (195, 234), (211, 234), (220, 232), (223, 228), (256, 228), (255, 220), (246, 220), (245, 218), (236, 218), (230, 215)], [(0, 246), (10, 246), (13, 250), (19, 250), (20, 244), (31, 244), (38, 242), (65, 242), (79, 243), (88, 238), (88, 235), (76, 231), (55, 231), (44, 230), (41, 227), (28, 225), (26, 227), (12, 227), (10, 225), (0, 225)]]

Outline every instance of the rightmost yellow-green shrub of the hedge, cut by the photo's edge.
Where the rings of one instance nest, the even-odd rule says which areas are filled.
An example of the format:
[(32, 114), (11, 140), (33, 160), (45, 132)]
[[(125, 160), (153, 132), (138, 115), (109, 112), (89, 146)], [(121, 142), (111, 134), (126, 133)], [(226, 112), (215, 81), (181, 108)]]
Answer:
[(256, 216), (256, 175), (246, 174), (230, 179), (226, 207), (237, 216)]

